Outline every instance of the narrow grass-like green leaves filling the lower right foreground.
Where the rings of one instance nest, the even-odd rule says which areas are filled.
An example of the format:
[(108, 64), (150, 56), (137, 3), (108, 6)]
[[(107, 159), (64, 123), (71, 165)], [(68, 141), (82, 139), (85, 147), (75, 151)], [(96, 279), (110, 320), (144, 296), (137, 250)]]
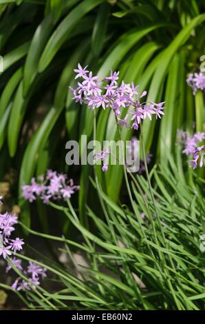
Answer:
[[(50, 203), (76, 227), (81, 234), (80, 243), (29, 231), (62, 241), (61, 250), (68, 254), (81, 276), (79, 279), (69, 269), (45, 260), (45, 267), (50, 270), (48, 277), (54, 274), (62, 289), (53, 293), (36, 287), (41, 298), (28, 292), (33, 300), (30, 303), (27, 298), (28, 307), (204, 310), (205, 259), (199, 237), (204, 234), (204, 182), (195, 177), (193, 188), (189, 187), (170, 156), (169, 165), (154, 167), (150, 176), (155, 183), (151, 191), (143, 176), (132, 176), (133, 210), (127, 205), (116, 205), (99, 187), (105, 219), (89, 205), (86, 211), (94, 231), (80, 224), (69, 200), (67, 207)], [(91, 183), (97, 187), (92, 179)], [(82, 271), (72, 257), (74, 247), (89, 264), (81, 267)]]

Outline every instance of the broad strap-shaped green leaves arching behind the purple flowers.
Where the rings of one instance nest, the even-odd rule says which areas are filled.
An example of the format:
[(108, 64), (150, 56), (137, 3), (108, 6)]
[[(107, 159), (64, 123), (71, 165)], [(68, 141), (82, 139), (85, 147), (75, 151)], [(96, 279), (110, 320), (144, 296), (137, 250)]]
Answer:
[[(139, 83), (140, 91), (149, 90), (148, 100), (166, 101), (162, 121), (143, 125), (146, 150), (154, 152), (155, 159), (165, 161), (164, 151), (173, 152), (177, 128), (192, 130), (195, 121), (196, 129), (203, 129), (203, 94), (193, 97), (186, 75), (199, 70), (205, 52), (204, 1), (3, 0), (0, 15), (1, 176), (10, 167), (17, 170), (27, 225), (30, 216), (21, 201), (21, 185), (54, 165), (67, 170), (66, 141), (92, 136), (93, 113), (73, 103), (68, 89), (78, 62), (101, 78), (110, 69), (120, 70), (121, 79)], [(116, 136), (109, 110), (99, 110), (97, 139)], [(131, 132), (123, 130), (122, 138), (130, 137)], [(87, 166), (81, 168), (82, 219), (90, 172)], [(105, 179), (100, 172), (98, 176), (117, 201), (122, 168), (111, 166)]]

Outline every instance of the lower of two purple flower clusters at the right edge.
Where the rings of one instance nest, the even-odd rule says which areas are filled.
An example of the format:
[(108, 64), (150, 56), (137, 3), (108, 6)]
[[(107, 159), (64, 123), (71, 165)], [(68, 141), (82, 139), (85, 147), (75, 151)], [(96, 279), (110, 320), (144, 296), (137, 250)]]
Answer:
[(199, 146), (199, 143), (204, 141), (205, 132), (197, 132), (193, 136), (188, 136), (187, 132), (182, 130), (177, 131), (180, 141), (184, 145), (184, 150), (182, 151), (186, 156), (193, 156), (193, 159), (188, 161), (189, 166), (193, 169), (197, 168), (197, 163), (199, 161), (199, 167), (202, 168), (204, 161), (204, 151), (205, 146)]

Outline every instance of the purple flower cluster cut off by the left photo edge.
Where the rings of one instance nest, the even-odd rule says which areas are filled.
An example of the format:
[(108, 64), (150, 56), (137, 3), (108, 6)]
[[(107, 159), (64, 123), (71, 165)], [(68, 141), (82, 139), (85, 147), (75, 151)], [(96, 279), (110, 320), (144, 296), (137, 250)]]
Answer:
[(12, 232), (15, 230), (14, 225), (18, 223), (16, 215), (12, 215), (9, 212), (0, 214), (0, 256), (6, 259), (6, 256), (14, 254), (17, 251), (22, 250), (24, 244), (22, 239), (17, 237), (16, 239), (10, 239)]

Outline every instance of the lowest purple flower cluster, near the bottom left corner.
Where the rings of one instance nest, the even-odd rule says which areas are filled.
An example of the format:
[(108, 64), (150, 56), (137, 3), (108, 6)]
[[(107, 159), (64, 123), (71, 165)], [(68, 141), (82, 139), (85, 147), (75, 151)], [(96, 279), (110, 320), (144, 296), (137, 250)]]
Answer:
[[(12, 288), (14, 290), (20, 291), (30, 290), (31, 288), (35, 289), (37, 285), (40, 285), (40, 280), (46, 277), (46, 269), (36, 265), (36, 263), (29, 262), (28, 267), (23, 270), (21, 259), (16, 259), (14, 257), (11, 258), (10, 261), (14, 267), (17, 267), (17, 269), (28, 278), (28, 281), (25, 281), (24, 279), (22, 280), (20, 277), (18, 277), (12, 284)], [(6, 273), (8, 273), (11, 269), (12, 266), (9, 264), (8, 267), (6, 267)]]

